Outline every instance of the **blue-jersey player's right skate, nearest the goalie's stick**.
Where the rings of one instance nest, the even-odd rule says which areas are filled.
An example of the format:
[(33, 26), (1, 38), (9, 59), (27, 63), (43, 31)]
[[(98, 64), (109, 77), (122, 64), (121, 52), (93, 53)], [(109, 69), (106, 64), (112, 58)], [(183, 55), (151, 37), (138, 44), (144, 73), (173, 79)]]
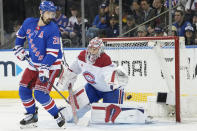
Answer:
[(58, 117), (55, 118), (56, 121), (57, 121), (57, 125), (59, 127), (63, 127), (65, 125), (65, 117), (63, 115), (64, 114), (63, 112), (64, 112), (65, 109), (66, 109), (65, 107), (60, 108), (59, 113), (58, 113)]

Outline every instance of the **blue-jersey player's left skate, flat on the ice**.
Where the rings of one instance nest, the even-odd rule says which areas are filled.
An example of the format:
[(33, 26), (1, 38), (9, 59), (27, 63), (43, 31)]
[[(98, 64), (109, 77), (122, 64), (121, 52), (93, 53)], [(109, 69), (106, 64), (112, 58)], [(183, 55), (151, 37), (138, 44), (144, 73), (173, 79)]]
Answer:
[(20, 121), (21, 129), (23, 128), (34, 128), (37, 127), (38, 121), (38, 108), (36, 107), (34, 114), (25, 114), (25, 118)]

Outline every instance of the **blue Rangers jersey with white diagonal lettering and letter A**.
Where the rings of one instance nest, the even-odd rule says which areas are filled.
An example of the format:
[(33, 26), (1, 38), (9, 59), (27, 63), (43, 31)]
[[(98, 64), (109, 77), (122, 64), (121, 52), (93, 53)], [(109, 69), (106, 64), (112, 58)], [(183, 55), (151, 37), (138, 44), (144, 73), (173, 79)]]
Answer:
[(38, 18), (27, 18), (16, 36), (16, 46), (24, 46), (27, 39), (29, 56), (32, 63), (39, 67), (41, 64), (48, 65), (50, 69), (60, 69), (61, 45), (60, 31), (54, 22), (45, 26), (38, 26)]

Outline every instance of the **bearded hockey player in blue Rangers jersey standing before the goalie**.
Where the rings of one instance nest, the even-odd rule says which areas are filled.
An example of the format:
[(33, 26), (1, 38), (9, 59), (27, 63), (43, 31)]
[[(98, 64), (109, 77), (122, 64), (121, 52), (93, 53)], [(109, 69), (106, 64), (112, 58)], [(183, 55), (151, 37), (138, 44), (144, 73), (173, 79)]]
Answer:
[[(14, 54), (21, 61), (29, 57), (34, 65), (29, 65), (25, 69), (20, 81), (19, 96), (27, 111), (20, 124), (36, 124), (38, 113), (35, 100), (37, 100), (56, 119), (58, 126), (62, 127), (65, 124), (62, 114), (64, 108), (58, 109), (49, 95), (52, 84), (60, 72), (62, 58), (60, 32), (58, 26), (52, 22), (56, 6), (51, 1), (43, 1), (39, 9), (40, 18), (27, 18), (16, 34)], [(26, 39), (29, 53), (23, 48)]]

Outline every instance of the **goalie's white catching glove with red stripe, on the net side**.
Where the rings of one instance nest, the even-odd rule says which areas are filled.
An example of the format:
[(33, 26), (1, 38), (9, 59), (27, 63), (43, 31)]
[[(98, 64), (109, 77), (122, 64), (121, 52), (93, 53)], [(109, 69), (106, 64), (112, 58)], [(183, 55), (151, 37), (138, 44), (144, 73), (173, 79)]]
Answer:
[(112, 90), (124, 87), (128, 83), (128, 75), (126, 71), (121, 67), (115, 68), (112, 73), (108, 72), (105, 77), (105, 81), (109, 84)]

